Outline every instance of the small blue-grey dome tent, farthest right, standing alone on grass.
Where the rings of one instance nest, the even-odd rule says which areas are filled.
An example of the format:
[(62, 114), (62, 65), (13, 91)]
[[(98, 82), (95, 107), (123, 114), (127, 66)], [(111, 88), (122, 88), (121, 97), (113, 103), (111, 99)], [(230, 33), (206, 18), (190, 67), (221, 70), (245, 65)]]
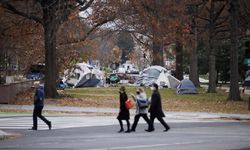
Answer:
[(197, 89), (191, 80), (184, 79), (176, 89), (177, 94), (196, 94)]

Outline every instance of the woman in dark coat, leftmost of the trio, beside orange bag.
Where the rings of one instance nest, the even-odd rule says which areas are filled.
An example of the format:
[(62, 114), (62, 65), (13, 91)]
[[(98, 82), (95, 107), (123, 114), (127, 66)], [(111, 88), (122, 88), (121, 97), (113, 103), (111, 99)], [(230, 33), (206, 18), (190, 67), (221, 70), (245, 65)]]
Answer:
[(129, 122), (130, 114), (129, 114), (129, 110), (125, 106), (125, 102), (127, 101), (128, 96), (126, 94), (126, 90), (124, 86), (121, 86), (119, 93), (120, 93), (120, 111), (117, 116), (117, 119), (119, 121), (121, 129), (118, 132), (121, 133), (124, 131), (122, 120), (126, 120), (127, 131), (125, 133), (129, 133), (130, 132), (130, 122)]

